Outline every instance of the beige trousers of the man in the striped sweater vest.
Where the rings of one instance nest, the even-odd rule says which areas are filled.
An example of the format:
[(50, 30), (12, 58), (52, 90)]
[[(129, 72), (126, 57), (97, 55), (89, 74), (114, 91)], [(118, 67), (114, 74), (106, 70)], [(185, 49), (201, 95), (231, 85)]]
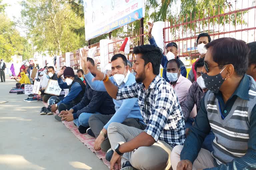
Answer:
[[(180, 161), (180, 152), (183, 149), (182, 145), (177, 145), (173, 148), (171, 153), (171, 164), (172, 169), (176, 170), (177, 165)], [(198, 156), (196, 160), (193, 163), (193, 169), (192, 170), (198, 170), (198, 169), (205, 169), (205, 168), (212, 168), (215, 167), (213, 157), (210, 151), (201, 148), (200, 152), (198, 153)]]

